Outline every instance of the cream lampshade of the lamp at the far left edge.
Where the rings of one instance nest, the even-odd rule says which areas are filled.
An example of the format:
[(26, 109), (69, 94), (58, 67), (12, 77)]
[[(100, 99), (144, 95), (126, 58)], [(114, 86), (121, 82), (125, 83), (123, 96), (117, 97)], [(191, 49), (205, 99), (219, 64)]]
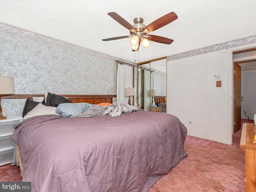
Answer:
[(13, 77), (0, 76), (0, 95), (14, 94)]

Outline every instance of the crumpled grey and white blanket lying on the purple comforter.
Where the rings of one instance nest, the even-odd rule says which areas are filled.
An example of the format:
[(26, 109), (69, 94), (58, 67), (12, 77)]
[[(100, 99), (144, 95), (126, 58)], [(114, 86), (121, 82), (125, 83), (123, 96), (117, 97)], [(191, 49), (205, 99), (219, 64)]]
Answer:
[(97, 104), (94, 104), (84, 113), (70, 116), (70, 118), (88, 118), (106, 114), (112, 117), (120, 117), (122, 113), (131, 113), (133, 111), (138, 111), (138, 108), (136, 106), (129, 105), (128, 103), (114, 102), (110, 106), (99, 106)]

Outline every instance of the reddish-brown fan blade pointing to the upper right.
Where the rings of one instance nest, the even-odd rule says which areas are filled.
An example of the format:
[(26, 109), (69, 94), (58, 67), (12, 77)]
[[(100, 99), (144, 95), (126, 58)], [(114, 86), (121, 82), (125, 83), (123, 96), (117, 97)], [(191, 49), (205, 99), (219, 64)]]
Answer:
[(142, 31), (144, 31), (145, 29), (148, 29), (144, 33), (152, 32), (154, 30), (157, 30), (157, 29), (169, 24), (170, 22), (173, 22), (177, 18), (178, 18), (178, 16), (174, 12), (170, 12), (170, 13), (160, 17), (159, 19), (153, 21), (148, 26), (144, 27)]

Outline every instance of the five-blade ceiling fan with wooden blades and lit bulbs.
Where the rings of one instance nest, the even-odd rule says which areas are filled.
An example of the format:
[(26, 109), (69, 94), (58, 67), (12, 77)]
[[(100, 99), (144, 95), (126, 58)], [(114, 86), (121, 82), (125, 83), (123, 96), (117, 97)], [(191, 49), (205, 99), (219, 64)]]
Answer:
[(108, 15), (120, 23), (122, 26), (130, 30), (130, 35), (128, 36), (120, 36), (120, 37), (113, 37), (102, 39), (102, 41), (111, 41), (123, 38), (131, 38), (130, 43), (132, 44), (131, 48), (132, 51), (137, 51), (140, 47), (140, 42), (142, 45), (147, 48), (150, 45), (150, 41), (163, 43), (163, 44), (171, 44), (173, 42), (172, 39), (156, 36), (156, 35), (149, 35), (149, 32), (157, 30), (170, 22), (173, 22), (178, 18), (178, 16), (174, 12), (170, 12), (157, 20), (153, 21), (152, 23), (148, 24), (147, 26), (143, 24), (143, 18), (137, 17), (134, 18), (134, 24), (131, 25), (128, 23), (124, 18), (118, 15), (116, 12), (109, 12)]

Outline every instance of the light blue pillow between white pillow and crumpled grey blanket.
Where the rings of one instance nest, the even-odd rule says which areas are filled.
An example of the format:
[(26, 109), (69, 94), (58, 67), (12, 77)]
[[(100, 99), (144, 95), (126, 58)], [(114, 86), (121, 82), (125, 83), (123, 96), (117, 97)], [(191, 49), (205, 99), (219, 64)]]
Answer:
[(56, 113), (62, 117), (70, 117), (85, 112), (91, 106), (89, 103), (61, 103), (56, 108)]

